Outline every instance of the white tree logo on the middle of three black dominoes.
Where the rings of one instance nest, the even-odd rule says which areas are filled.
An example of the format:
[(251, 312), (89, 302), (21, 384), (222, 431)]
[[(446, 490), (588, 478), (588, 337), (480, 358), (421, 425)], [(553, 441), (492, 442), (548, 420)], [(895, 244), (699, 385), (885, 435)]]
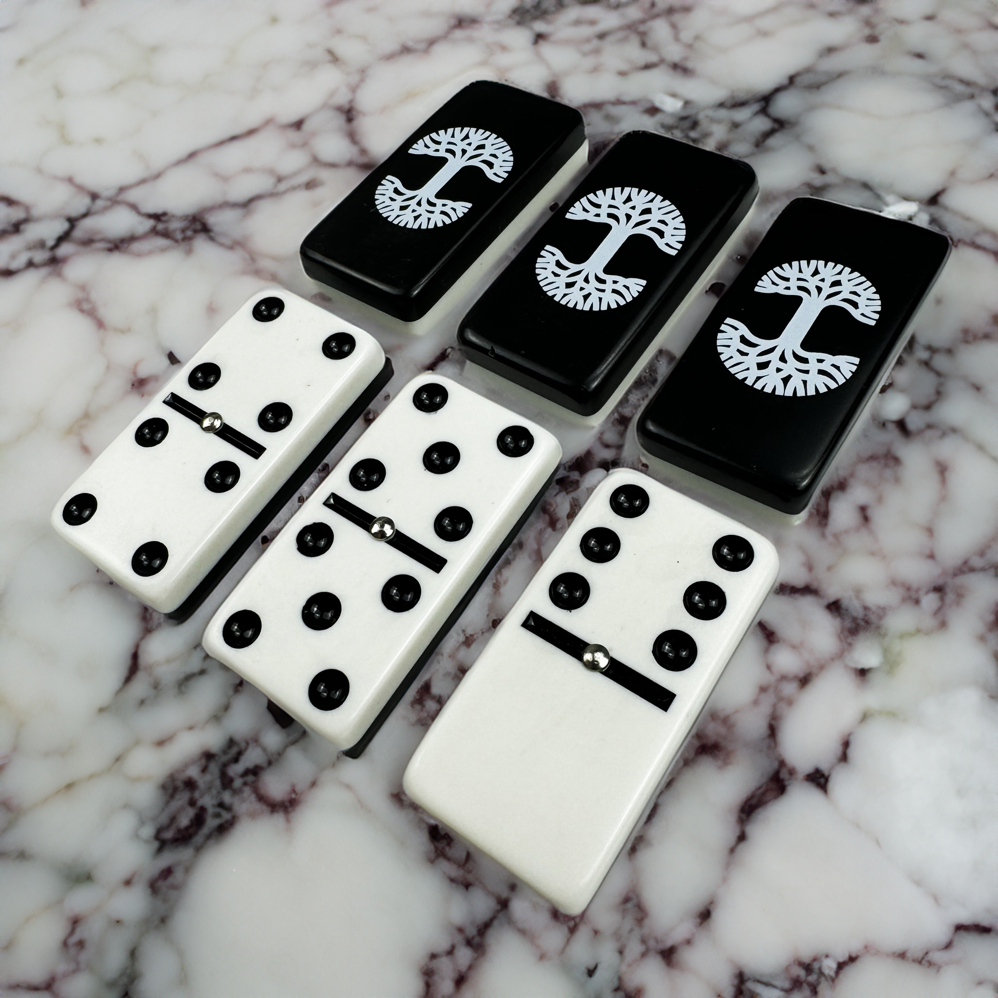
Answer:
[(679, 209), (651, 191), (605, 188), (586, 195), (568, 211), (573, 222), (602, 222), (610, 226), (606, 239), (584, 263), (572, 263), (557, 247), (547, 246), (534, 269), (541, 287), (571, 308), (603, 311), (636, 298), (645, 281), (619, 277), (603, 268), (632, 237), (647, 236), (663, 252), (675, 256), (686, 239), (686, 223)]

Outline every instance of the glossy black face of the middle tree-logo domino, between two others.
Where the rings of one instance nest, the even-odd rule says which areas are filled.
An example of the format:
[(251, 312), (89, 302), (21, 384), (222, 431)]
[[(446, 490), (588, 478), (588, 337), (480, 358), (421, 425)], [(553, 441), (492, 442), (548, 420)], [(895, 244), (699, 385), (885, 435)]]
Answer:
[(739, 160), (630, 132), (464, 317), (470, 359), (592, 415), (749, 211)]

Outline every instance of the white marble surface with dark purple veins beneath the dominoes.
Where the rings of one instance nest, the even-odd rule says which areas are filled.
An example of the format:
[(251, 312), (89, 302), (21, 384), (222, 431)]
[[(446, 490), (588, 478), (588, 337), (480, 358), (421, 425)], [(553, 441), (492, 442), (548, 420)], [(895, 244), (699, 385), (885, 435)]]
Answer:
[[(993, 3), (4, 0), (0, 61), (0, 993), (996, 993)], [(400, 775), (606, 468), (639, 462), (674, 350), (564, 435), (543, 507), (357, 761), (205, 655), (224, 591), (165, 624), (48, 526), (250, 291), (316, 292), (302, 235), (483, 77), (580, 107), (597, 149), (640, 127), (746, 157), (749, 249), (805, 193), (912, 202), (956, 243), (808, 518), (771, 528), (778, 588), (580, 918)], [(447, 330), (382, 340), (391, 390), (466, 376)]]

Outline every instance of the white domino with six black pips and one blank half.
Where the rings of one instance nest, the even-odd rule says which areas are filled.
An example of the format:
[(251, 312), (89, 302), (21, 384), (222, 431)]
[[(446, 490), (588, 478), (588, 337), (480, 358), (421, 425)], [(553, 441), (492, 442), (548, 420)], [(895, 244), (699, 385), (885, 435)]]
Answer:
[(431, 725), (405, 792), (579, 914), (776, 571), (764, 537), (612, 471)]

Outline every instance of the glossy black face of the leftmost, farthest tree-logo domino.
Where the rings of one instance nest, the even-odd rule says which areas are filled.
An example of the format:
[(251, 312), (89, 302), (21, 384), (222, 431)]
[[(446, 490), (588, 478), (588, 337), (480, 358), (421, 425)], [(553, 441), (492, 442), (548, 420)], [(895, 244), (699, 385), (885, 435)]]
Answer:
[(571, 159), (574, 108), (465, 87), (301, 244), (305, 272), (405, 321), (424, 315)]

